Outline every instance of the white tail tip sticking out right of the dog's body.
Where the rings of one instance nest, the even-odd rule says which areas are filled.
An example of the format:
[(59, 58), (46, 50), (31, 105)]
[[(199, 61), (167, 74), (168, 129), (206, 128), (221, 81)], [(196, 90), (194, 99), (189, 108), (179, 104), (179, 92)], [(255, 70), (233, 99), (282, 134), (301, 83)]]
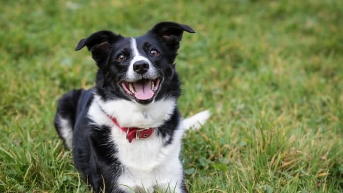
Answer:
[(185, 130), (190, 128), (199, 129), (207, 121), (207, 119), (210, 118), (210, 116), (211, 113), (209, 110), (201, 111), (200, 113), (182, 120), (182, 126)]

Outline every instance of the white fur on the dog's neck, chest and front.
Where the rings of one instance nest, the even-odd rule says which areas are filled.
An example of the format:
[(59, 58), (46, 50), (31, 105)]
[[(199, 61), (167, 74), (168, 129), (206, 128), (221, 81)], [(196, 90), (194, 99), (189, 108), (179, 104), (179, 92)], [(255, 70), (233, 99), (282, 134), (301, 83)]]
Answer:
[[(100, 109), (101, 106), (101, 109)], [(152, 192), (153, 188), (181, 192), (182, 165), (179, 161), (181, 137), (184, 129), (179, 126), (173, 135), (172, 144), (165, 146), (161, 136), (154, 130), (153, 134), (143, 140), (129, 143), (126, 134), (109, 119), (115, 117), (123, 127), (158, 127), (170, 118), (175, 108), (175, 100), (160, 100), (147, 106), (141, 106), (127, 100), (103, 102), (95, 96), (88, 116), (96, 124), (106, 124), (111, 128), (111, 140), (117, 147), (116, 156), (123, 164), (124, 170), (118, 184), (123, 190), (142, 190)], [(106, 112), (106, 115), (103, 110)], [(181, 124), (179, 124), (181, 125)]]

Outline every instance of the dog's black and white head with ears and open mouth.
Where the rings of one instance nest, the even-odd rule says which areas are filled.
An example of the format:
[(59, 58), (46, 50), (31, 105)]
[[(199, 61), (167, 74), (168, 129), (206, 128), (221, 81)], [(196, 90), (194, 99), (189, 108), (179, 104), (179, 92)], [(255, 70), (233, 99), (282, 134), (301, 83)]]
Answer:
[(145, 35), (126, 38), (98, 31), (79, 41), (75, 50), (87, 46), (98, 65), (97, 91), (105, 99), (125, 98), (148, 104), (180, 95), (174, 60), (188, 25), (156, 24)]

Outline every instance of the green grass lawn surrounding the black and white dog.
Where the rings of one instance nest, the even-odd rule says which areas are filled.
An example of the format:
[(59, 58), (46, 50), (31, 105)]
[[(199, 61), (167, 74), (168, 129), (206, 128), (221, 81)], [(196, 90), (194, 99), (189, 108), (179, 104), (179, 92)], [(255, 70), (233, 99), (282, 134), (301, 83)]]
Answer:
[(4, 1), (0, 6), (0, 192), (86, 192), (52, 124), (57, 99), (91, 88), (78, 40), (189, 24), (177, 70), (190, 192), (343, 192), (343, 2)]

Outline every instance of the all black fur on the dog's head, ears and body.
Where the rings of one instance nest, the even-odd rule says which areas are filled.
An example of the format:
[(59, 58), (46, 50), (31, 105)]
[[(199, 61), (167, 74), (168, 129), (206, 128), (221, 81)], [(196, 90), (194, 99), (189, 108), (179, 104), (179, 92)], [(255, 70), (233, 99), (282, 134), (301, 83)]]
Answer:
[[(76, 168), (83, 174), (84, 180), (92, 185), (95, 192), (120, 193), (116, 183), (123, 172), (122, 163), (116, 158), (117, 147), (110, 143), (110, 128), (107, 125), (93, 124), (87, 117), (94, 95), (103, 101), (126, 99), (142, 104), (149, 104), (162, 98), (180, 96), (180, 81), (175, 72), (174, 60), (182, 39), (183, 31), (194, 33), (188, 25), (172, 22), (156, 24), (147, 34), (137, 37), (137, 47), (143, 48), (140, 52), (148, 58), (161, 78), (160, 87), (156, 95), (147, 101), (137, 100), (125, 93), (121, 82), (125, 80), (128, 71), (130, 38), (125, 38), (111, 31), (98, 31), (88, 38), (80, 40), (75, 50), (87, 47), (98, 65), (96, 86), (88, 91), (72, 90), (61, 97), (58, 102), (54, 125), (61, 136), (60, 118), (68, 120), (73, 126), (73, 160)], [(157, 49), (159, 55), (149, 55), (151, 48)], [(119, 62), (117, 57), (123, 54), (127, 61)], [(173, 134), (180, 122), (180, 113), (175, 107), (171, 118), (157, 129), (158, 136), (173, 141)], [(62, 136), (61, 136), (62, 138)], [(63, 139), (63, 138), (62, 138)], [(63, 139), (65, 140), (65, 139)], [(105, 187), (103, 187), (105, 185)], [(186, 191), (184, 180), (183, 191)]]

